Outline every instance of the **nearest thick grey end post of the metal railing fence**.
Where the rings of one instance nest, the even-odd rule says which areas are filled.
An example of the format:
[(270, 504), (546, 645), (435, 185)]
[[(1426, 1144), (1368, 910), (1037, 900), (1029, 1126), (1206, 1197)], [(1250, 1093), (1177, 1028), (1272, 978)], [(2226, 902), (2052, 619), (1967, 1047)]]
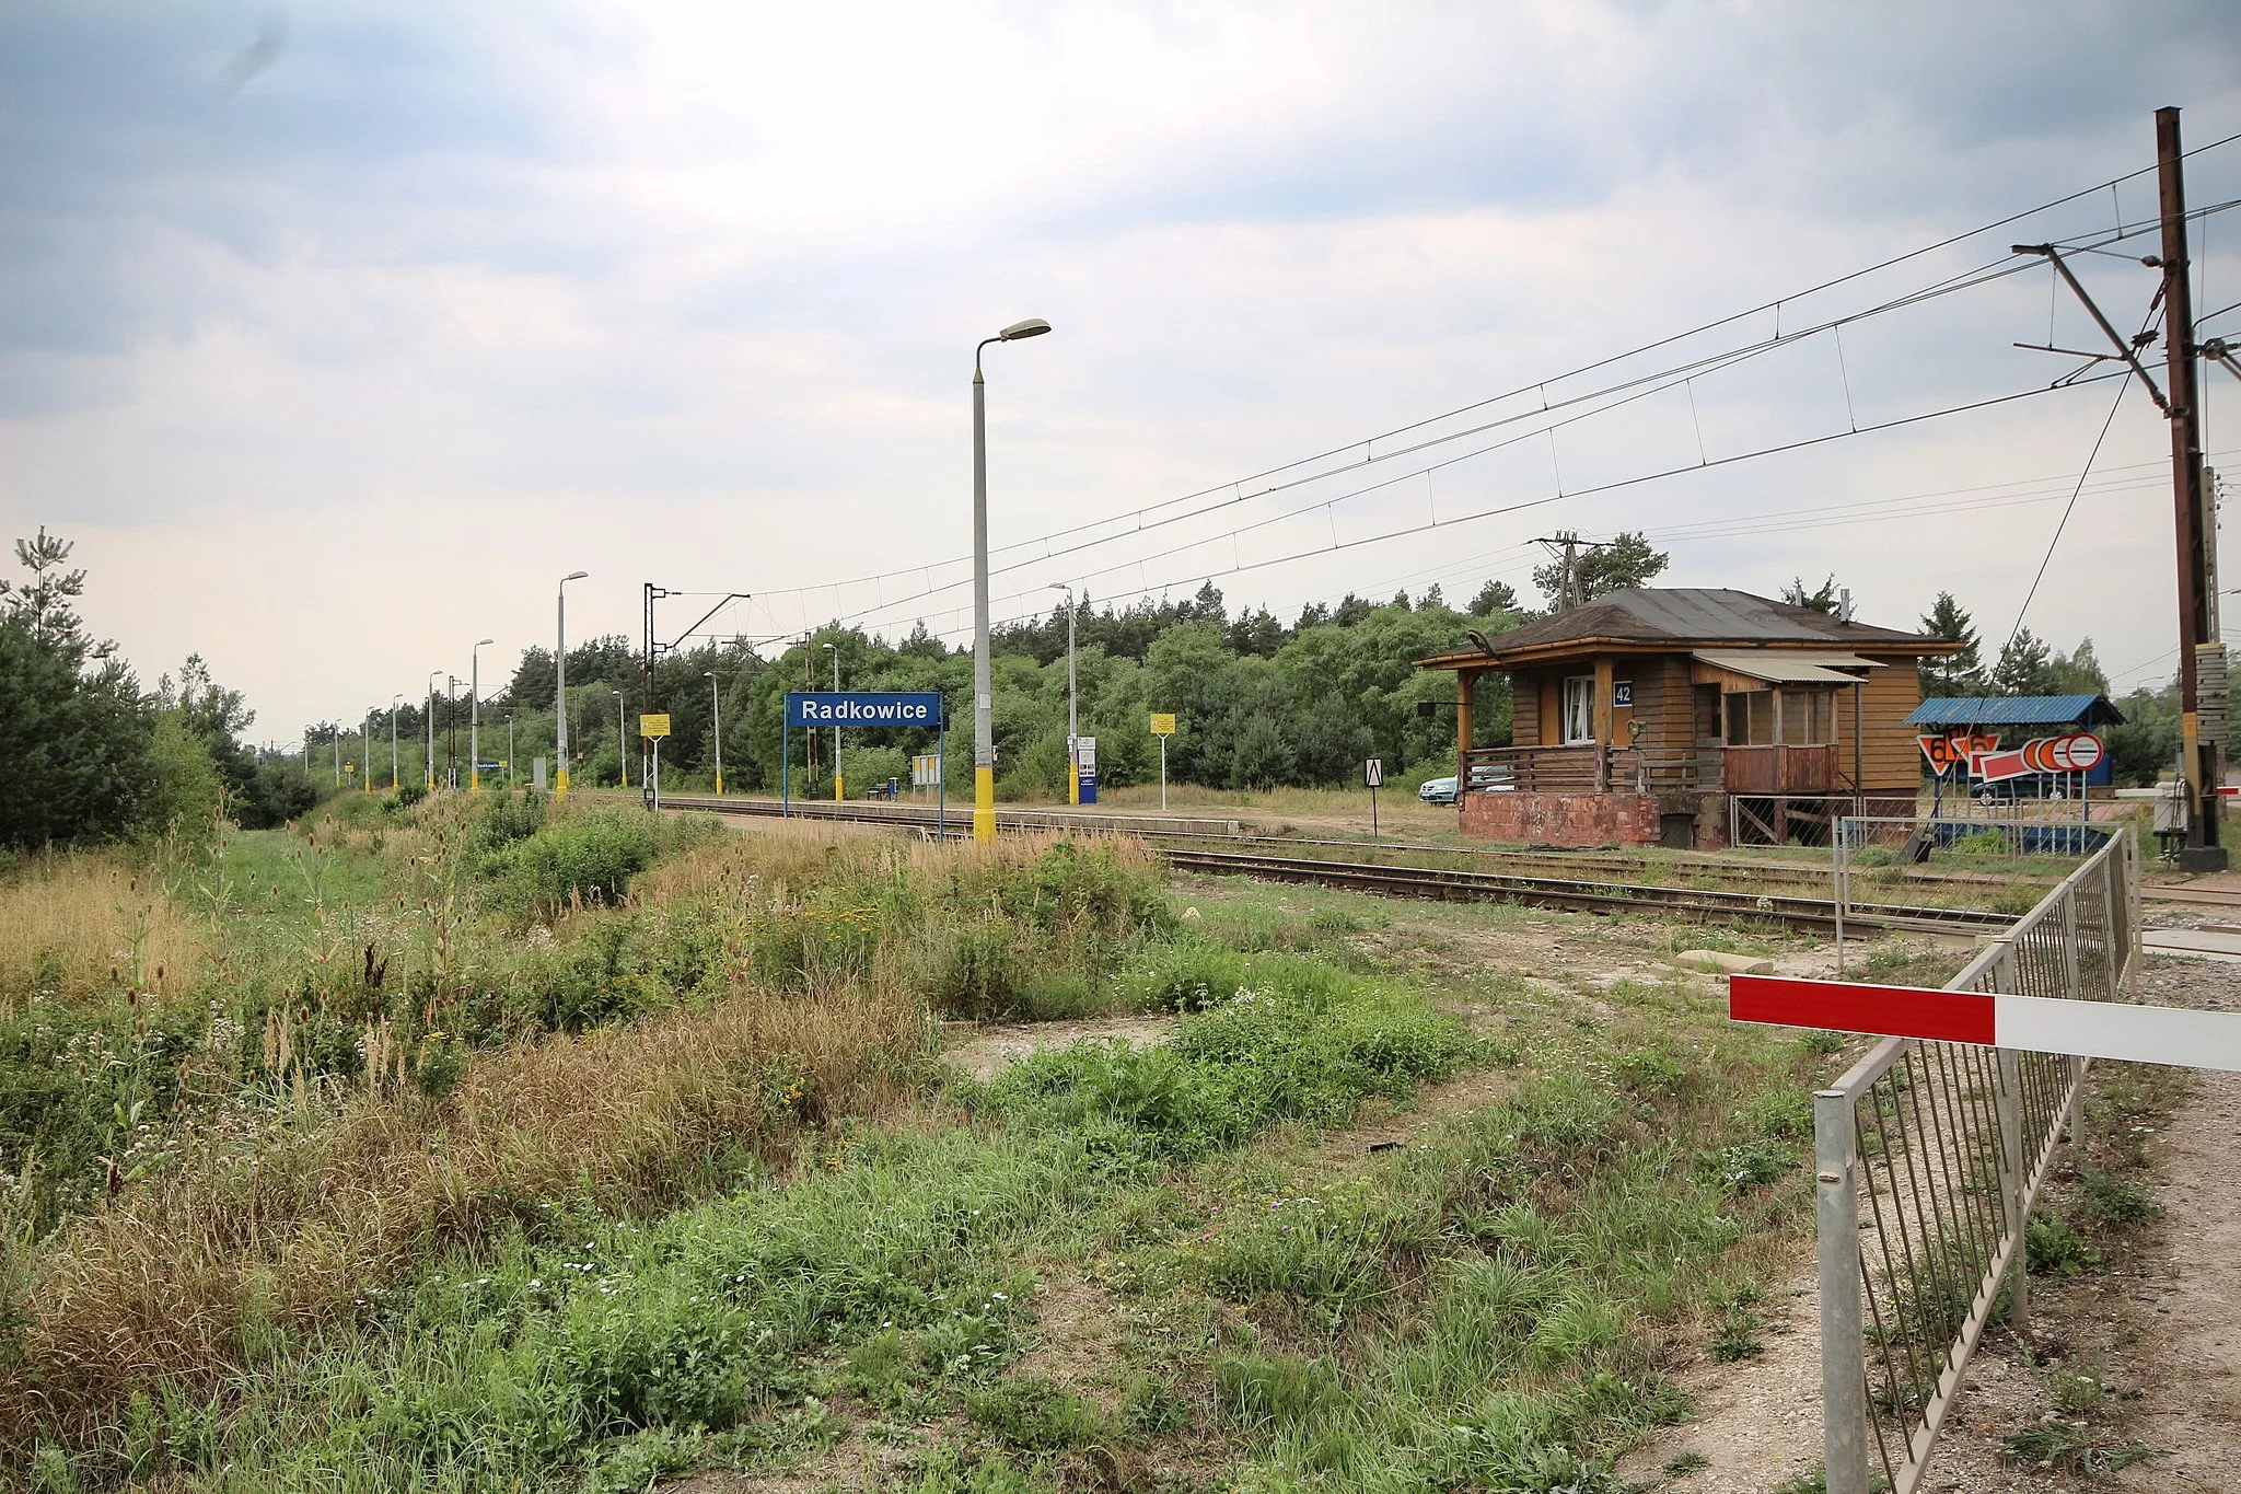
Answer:
[(1829, 1494), (1867, 1494), (1860, 1333), (1860, 1178), (1851, 1095), (1813, 1095), (1813, 1212), (1822, 1299), (1822, 1467)]

